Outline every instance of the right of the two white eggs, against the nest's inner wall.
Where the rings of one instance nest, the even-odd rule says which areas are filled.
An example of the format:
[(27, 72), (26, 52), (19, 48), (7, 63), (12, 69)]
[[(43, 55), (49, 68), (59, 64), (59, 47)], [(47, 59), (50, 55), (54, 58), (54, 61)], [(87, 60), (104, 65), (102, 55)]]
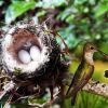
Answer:
[(40, 60), (41, 52), (37, 45), (32, 45), (30, 48), (30, 56), (32, 60)]

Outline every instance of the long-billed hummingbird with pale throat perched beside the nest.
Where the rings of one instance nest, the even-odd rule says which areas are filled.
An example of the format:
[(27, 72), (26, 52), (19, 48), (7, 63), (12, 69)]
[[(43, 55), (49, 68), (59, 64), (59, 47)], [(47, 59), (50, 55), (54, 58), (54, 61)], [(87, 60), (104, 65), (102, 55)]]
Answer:
[[(78, 92), (90, 81), (94, 72), (93, 55), (95, 52), (99, 52), (97, 46), (87, 42), (84, 44), (82, 60), (76, 70), (73, 79), (69, 85), (66, 95), (71, 95), (71, 105), (75, 105)], [(103, 54), (100, 52), (100, 54)], [(103, 54), (104, 55), (104, 54)]]

